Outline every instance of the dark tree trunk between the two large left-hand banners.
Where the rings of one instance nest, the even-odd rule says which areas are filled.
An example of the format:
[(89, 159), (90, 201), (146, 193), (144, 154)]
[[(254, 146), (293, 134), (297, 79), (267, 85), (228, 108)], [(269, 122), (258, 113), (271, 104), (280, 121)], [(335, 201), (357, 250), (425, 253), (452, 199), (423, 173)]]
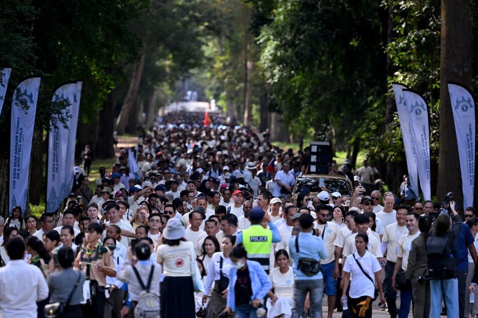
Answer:
[(30, 181), (28, 186), (29, 202), (34, 205), (40, 204), (42, 189), (45, 189), (43, 178), (43, 128), (35, 125), (33, 129), (32, 157), (30, 163)]

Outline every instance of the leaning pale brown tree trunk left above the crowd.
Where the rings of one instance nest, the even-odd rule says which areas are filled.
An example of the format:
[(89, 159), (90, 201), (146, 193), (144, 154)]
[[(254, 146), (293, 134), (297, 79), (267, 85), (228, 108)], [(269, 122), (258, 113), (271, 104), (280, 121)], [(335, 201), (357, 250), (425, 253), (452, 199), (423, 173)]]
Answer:
[(141, 54), (141, 58), (135, 64), (133, 74), (131, 76), (131, 83), (128, 89), (128, 94), (125, 97), (125, 101), (123, 102), (123, 106), (121, 107), (120, 114), (118, 115), (118, 119), (116, 120), (116, 131), (118, 131), (118, 134), (120, 135), (125, 132), (131, 109), (133, 108), (134, 103), (136, 102), (136, 98), (138, 96), (138, 88), (139, 84), (141, 83), (141, 77), (143, 75), (145, 56), (146, 53), (143, 51), (143, 53)]

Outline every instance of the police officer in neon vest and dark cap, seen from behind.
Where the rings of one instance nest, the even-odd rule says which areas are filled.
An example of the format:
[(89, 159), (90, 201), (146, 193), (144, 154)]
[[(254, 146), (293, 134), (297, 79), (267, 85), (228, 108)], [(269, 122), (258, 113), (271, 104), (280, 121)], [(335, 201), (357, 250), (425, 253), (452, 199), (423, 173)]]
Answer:
[[(272, 243), (280, 242), (279, 231), (270, 221), (270, 216), (264, 214), (264, 210), (260, 207), (251, 209), (249, 220), (251, 226), (238, 234), (237, 243), (242, 243), (247, 251), (247, 257), (259, 262), (268, 274), (270, 246)], [(268, 229), (262, 227), (262, 220), (269, 223)]]

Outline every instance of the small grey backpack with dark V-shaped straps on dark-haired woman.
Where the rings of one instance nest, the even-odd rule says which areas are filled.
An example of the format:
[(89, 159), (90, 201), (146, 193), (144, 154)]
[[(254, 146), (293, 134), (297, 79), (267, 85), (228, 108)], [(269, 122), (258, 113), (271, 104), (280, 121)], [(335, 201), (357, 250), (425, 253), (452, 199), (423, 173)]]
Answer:
[(151, 286), (151, 280), (153, 278), (154, 265), (151, 265), (151, 271), (149, 272), (148, 284), (144, 286), (143, 280), (139, 276), (138, 270), (133, 267), (133, 271), (138, 278), (139, 284), (143, 291), (138, 296), (138, 303), (134, 308), (135, 318), (157, 318), (159, 317), (159, 296), (149, 292)]

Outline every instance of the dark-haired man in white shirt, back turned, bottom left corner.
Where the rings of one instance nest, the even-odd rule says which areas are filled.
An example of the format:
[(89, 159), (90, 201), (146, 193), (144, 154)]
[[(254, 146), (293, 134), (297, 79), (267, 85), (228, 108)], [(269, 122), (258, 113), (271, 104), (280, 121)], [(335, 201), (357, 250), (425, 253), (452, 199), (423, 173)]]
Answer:
[(0, 268), (0, 316), (36, 318), (37, 301), (48, 297), (45, 277), (37, 266), (25, 263), (22, 238), (11, 239), (7, 253), (10, 262)]

